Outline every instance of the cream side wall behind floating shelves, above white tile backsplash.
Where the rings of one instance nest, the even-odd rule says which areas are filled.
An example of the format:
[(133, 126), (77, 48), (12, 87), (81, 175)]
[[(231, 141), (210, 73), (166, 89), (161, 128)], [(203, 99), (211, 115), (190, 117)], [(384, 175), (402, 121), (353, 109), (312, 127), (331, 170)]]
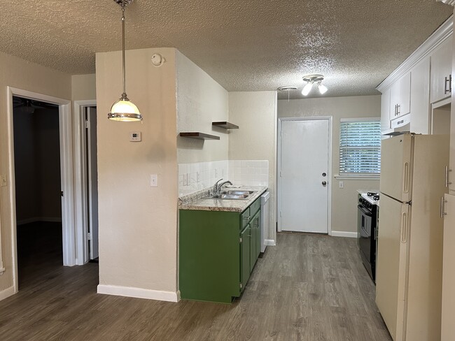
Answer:
[(228, 92), (205, 71), (176, 52), (177, 134), (200, 131), (220, 140), (177, 138), (179, 164), (228, 159), (228, 131), (211, 122), (228, 120)]

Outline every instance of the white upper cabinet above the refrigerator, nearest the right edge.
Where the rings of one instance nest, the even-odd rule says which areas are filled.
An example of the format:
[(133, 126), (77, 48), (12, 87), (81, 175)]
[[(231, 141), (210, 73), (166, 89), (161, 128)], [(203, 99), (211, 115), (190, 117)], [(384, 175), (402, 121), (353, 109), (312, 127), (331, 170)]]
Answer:
[(452, 50), (452, 37), (449, 36), (431, 53), (431, 103), (451, 95)]

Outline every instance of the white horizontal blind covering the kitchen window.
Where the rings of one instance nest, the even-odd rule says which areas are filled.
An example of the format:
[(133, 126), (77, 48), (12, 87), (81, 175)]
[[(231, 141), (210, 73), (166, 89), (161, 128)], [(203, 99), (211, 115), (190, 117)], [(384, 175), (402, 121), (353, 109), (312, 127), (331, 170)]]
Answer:
[(339, 175), (379, 175), (381, 122), (342, 119), (339, 129)]

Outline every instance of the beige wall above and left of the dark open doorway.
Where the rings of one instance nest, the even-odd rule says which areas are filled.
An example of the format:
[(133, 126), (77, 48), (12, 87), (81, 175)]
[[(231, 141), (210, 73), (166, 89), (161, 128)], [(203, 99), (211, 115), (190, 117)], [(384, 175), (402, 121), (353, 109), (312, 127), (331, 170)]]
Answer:
[(6, 268), (5, 273), (0, 276), (0, 296), (1, 291), (13, 286), (7, 86), (61, 99), (71, 99), (71, 75), (0, 53), (0, 174), (8, 175), (8, 186), (0, 187), (1, 254), (3, 266)]

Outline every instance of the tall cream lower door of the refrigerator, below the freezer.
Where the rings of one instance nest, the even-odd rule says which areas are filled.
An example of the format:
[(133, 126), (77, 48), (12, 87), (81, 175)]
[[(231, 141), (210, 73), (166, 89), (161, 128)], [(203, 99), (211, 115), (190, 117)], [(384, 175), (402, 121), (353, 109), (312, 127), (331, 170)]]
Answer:
[(411, 207), (381, 196), (376, 304), (393, 340), (404, 340)]

